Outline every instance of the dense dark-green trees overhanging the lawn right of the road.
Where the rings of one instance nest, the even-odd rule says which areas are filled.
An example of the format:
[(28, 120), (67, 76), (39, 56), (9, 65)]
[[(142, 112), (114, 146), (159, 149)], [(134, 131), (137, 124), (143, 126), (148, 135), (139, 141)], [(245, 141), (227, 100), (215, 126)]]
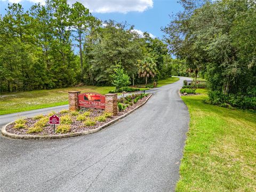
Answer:
[(170, 51), (207, 77), (211, 103), (256, 109), (256, 1), (180, 3), (183, 11), (162, 28)]

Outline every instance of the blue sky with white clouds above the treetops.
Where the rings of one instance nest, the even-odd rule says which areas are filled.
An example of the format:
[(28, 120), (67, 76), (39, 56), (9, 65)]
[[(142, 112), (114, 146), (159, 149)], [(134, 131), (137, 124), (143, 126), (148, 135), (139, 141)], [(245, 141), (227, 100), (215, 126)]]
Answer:
[[(0, 14), (5, 14), (8, 3), (20, 3), (27, 10), (34, 3), (44, 0), (0, 0)], [(76, 0), (68, 0), (70, 4)], [(147, 31), (154, 37), (162, 38), (161, 27), (166, 26), (169, 14), (177, 13), (182, 8), (177, 0), (78, 0), (90, 9), (92, 14), (104, 20), (127, 21), (138, 32)]]

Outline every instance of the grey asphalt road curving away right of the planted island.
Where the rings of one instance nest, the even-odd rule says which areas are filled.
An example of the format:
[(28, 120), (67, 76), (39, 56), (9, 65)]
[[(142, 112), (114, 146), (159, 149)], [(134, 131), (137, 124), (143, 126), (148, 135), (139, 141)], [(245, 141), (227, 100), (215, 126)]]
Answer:
[(173, 191), (189, 114), (178, 82), (98, 133), (61, 140), (0, 137), (0, 191)]

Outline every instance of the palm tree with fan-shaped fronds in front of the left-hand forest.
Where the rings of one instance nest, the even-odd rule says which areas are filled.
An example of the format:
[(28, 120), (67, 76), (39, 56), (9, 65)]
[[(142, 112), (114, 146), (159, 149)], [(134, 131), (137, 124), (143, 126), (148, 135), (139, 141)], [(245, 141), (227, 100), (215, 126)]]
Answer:
[(156, 63), (150, 57), (146, 57), (143, 60), (138, 60), (138, 73), (139, 77), (146, 78), (146, 86), (148, 83), (148, 77), (154, 77), (157, 73)]

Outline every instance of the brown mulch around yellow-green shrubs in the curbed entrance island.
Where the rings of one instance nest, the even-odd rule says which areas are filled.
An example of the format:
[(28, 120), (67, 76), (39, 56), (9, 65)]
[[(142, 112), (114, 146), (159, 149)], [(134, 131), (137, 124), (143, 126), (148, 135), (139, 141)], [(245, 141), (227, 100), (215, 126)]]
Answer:
[[(139, 99), (137, 103), (135, 103), (135, 104), (133, 103), (132, 106), (127, 107), (123, 111), (118, 111), (116, 116), (108, 117), (108, 118), (106, 118), (106, 121), (104, 121), (104, 122), (97, 121), (94, 126), (86, 126), (86, 125), (84, 125), (83, 121), (77, 121), (76, 120), (77, 116), (71, 116), (72, 124), (71, 124), (71, 129), (70, 129), (70, 131), (68, 133), (76, 133), (76, 132), (83, 132), (83, 131), (89, 131), (89, 130), (97, 129), (99, 126), (101, 126), (103, 124), (106, 124), (106, 123), (116, 119), (117, 117), (122, 116), (122, 115), (128, 113), (129, 111), (133, 110), (134, 108), (140, 106), (143, 102), (146, 101), (146, 99), (148, 97), (149, 97), (149, 95), (147, 97), (143, 97), (142, 99)], [(94, 117), (100, 116), (105, 111), (103, 109), (93, 109), (93, 108), (90, 108), (90, 109), (87, 109), (87, 110), (89, 110), (91, 112), (91, 114), (89, 116), (90, 118), (94, 118)], [(55, 113), (55, 115), (57, 115), (57, 116), (59, 116), (61, 118), (61, 116), (65, 116), (67, 114)], [(46, 116), (47, 115), (45, 115), (45, 117)], [(47, 126), (43, 127), (43, 131), (42, 132), (39, 132), (39, 133), (29, 133), (28, 134), (27, 133), (28, 128), (29, 127), (33, 127), (34, 124), (38, 120), (35, 120), (33, 118), (25, 118), (25, 120), (26, 120), (26, 128), (25, 129), (15, 129), (14, 128), (15, 123), (11, 123), (10, 125), (8, 125), (6, 127), (5, 130), (7, 132), (9, 132), (9, 133), (13, 133), (13, 134), (17, 134), (17, 135), (60, 135), (61, 134), (61, 133), (53, 133), (53, 125), (50, 125), (50, 124), (47, 124)], [(57, 127), (58, 126), (55, 127), (55, 131), (57, 130)], [(66, 133), (63, 133), (63, 134), (66, 134)]]

